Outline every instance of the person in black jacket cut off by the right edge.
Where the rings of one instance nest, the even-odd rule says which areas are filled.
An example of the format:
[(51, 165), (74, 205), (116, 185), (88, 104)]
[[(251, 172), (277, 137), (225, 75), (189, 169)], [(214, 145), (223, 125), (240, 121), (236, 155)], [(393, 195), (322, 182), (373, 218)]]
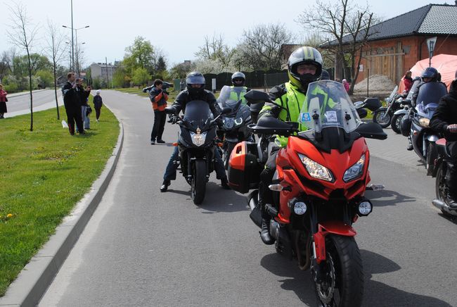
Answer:
[(438, 108), (430, 120), (430, 127), (442, 132), (446, 138), (446, 148), (452, 158), (446, 173), (449, 189), (449, 207), (457, 210), (457, 71), (449, 93), (439, 100)]

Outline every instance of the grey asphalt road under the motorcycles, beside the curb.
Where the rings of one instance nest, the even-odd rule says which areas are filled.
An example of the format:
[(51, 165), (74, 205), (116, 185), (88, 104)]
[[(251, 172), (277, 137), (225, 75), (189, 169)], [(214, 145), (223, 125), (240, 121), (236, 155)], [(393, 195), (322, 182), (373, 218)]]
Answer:
[[(148, 99), (103, 92), (124, 125), (120, 161), (98, 209), (39, 306), (314, 306), (309, 271), (260, 242), (245, 196), (213, 173), (201, 206), (178, 173), (160, 193), (172, 146), (149, 144)], [(103, 125), (103, 110), (101, 123)], [(370, 140), (374, 211), (354, 224), (363, 306), (457, 306), (457, 225), (433, 207), (434, 180), (406, 139)], [(175, 142), (167, 123), (164, 139)]]

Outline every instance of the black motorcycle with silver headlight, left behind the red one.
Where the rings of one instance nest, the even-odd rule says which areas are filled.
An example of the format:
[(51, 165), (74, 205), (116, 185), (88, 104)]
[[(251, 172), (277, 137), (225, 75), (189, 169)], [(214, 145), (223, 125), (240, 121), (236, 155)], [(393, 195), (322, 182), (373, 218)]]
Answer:
[[(222, 113), (228, 112), (226, 108)], [(177, 115), (172, 106), (165, 108), (167, 114)], [(220, 116), (220, 115), (219, 115)], [(179, 164), (184, 178), (191, 185), (191, 197), (196, 205), (205, 199), (206, 182), (214, 170), (216, 149), (216, 123), (212, 120), (210, 106), (205, 101), (189, 101), (184, 117), (178, 120)]]

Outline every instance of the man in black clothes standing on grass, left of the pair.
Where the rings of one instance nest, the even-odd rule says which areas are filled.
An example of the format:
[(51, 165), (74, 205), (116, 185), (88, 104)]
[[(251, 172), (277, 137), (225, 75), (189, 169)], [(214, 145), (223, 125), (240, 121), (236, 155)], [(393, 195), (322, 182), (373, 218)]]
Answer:
[(77, 90), (77, 84), (75, 83), (75, 73), (68, 73), (67, 82), (62, 87), (62, 94), (70, 134), (75, 134), (75, 123), (79, 134), (84, 134), (81, 116), (81, 98)]

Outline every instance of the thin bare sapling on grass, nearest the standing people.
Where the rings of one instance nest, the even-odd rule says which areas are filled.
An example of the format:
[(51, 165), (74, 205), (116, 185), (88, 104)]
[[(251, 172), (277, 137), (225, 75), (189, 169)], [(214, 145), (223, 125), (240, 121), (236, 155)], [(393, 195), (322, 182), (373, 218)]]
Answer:
[(46, 55), (52, 59), (54, 76), (54, 95), (56, 96), (57, 119), (60, 120), (59, 106), (57, 100), (57, 67), (65, 54), (65, 37), (60, 33), (56, 24), (48, 19), (48, 36), (46, 39)]

